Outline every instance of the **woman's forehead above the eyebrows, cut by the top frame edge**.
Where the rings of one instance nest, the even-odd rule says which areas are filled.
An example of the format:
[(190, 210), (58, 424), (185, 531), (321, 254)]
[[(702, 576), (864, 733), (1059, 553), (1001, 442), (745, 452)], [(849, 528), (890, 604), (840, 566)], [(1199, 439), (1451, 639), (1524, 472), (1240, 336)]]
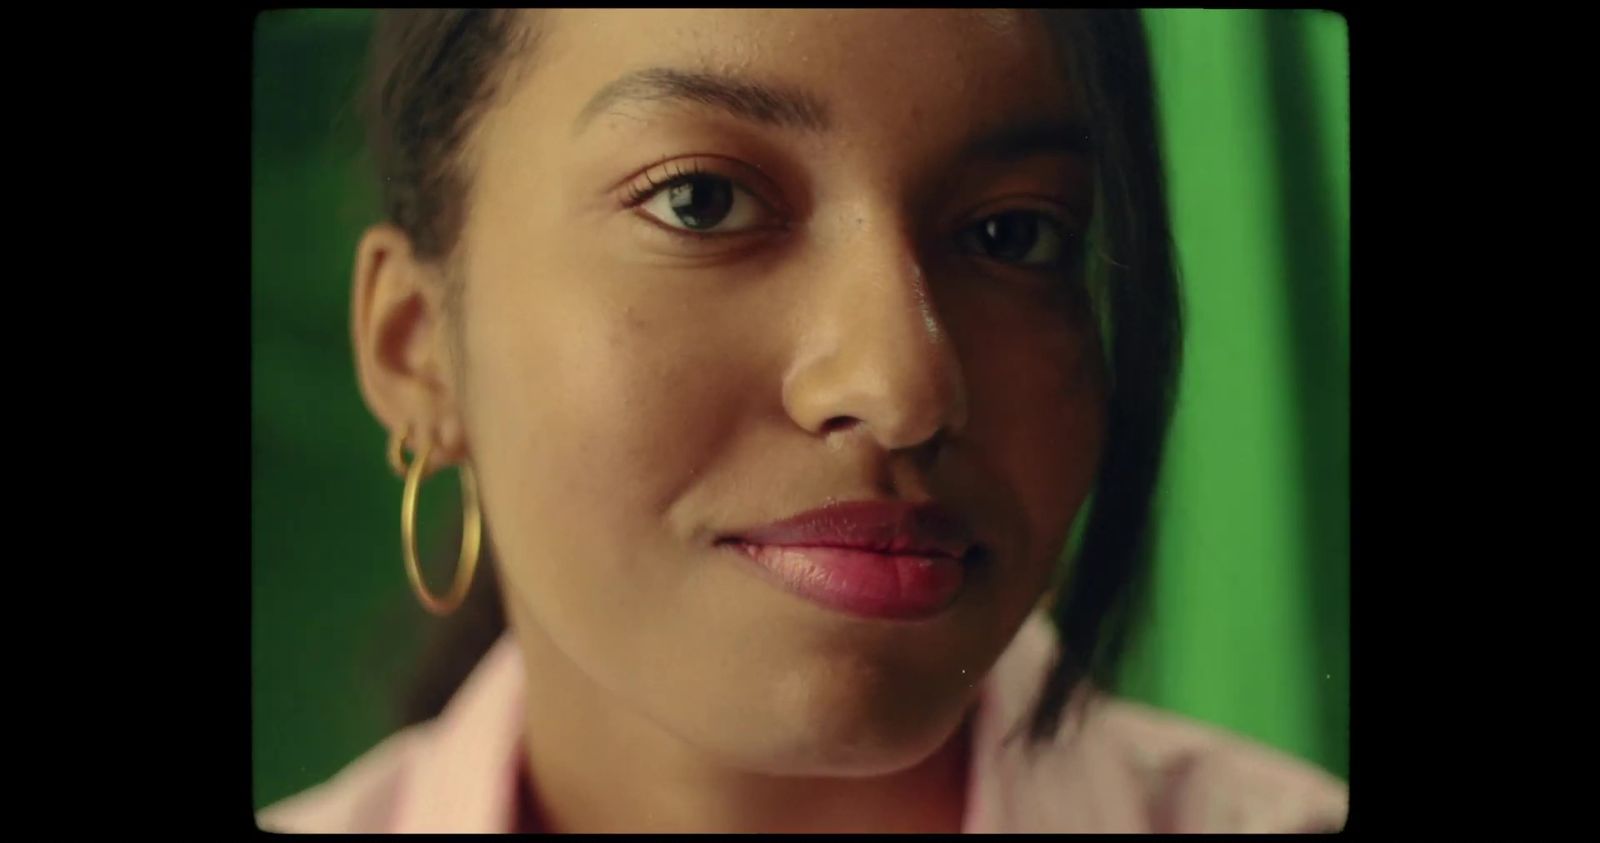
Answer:
[(1045, 27), (1019, 10), (558, 10), (536, 27), (534, 72), (507, 93), (558, 125), (645, 69), (798, 91), (856, 131), (1072, 110)]

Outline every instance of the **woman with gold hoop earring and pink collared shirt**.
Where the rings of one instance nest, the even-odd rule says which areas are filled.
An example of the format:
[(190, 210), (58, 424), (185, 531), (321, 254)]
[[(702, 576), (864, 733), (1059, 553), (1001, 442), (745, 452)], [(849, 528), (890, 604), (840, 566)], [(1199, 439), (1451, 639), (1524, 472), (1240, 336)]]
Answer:
[(1178, 366), (1136, 13), (416, 11), (374, 56), (362, 392), (406, 526), (461, 467), (424, 605), (494, 577), (507, 633), (264, 827), (1342, 824), (1091, 683)]

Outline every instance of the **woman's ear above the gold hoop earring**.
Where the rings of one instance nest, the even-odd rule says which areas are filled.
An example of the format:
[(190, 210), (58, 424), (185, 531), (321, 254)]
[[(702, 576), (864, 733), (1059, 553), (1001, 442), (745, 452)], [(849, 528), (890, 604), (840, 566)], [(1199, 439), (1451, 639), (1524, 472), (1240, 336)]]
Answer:
[(355, 248), (350, 334), (362, 398), (390, 432), (410, 429), (413, 446), (432, 438), (434, 465), (466, 454), (445, 283), (392, 224), (373, 226)]

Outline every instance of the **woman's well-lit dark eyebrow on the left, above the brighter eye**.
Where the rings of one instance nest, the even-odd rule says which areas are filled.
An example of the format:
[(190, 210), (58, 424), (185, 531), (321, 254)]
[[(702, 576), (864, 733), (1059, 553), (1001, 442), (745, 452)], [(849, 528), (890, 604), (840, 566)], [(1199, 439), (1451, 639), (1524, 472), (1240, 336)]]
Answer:
[(573, 134), (582, 131), (598, 114), (629, 101), (710, 106), (742, 120), (779, 128), (824, 131), (829, 126), (827, 107), (802, 91), (717, 74), (650, 67), (600, 88), (573, 122)]

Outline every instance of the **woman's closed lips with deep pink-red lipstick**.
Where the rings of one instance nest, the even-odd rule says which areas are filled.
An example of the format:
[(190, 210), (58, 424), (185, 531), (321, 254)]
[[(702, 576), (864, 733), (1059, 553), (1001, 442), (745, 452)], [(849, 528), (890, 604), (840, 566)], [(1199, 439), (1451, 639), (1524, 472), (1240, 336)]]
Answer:
[(938, 504), (854, 501), (725, 536), (784, 590), (864, 617), (938, 614), (960, 595), (973, 531)]

